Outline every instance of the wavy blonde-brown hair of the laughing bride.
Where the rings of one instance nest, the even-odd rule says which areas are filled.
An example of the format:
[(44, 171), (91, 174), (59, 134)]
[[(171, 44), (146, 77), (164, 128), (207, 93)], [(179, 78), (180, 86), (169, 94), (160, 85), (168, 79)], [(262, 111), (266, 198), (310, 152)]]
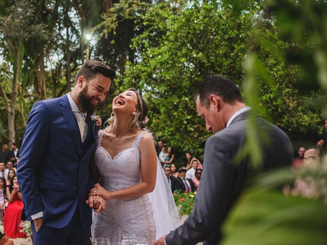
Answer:
[[(148, 105), (145, 102), (145, 100), (143, 99), (142, 95), (135, 88), (129, 88), (126, 91), (133, 91), (137, 95), (137, 106), (136, 106), (137, 111), (136, 111), (135, 115), (131, 115), (132, 121), (129, 125), (129, 130), (138, 131), (140, 129), (144, 129), (145, 123), (143, 121), (146, 118), (146, 116), (148, 115)], [(112, 112), (110, 118), (106, 121), (106, 124), (108, 124), (106, 129), (112, 128), (114, 118), (115, 118), (115, 116)]]

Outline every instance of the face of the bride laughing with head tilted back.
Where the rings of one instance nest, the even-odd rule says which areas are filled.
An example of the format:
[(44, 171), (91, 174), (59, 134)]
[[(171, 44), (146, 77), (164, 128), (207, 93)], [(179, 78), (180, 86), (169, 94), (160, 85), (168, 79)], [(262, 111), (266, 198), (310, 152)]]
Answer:
[(126, 113), (130, 113), (132, 116), (132, 112), (136, 111), (136, 108), (137, 95), (134, 91), (128, 90), (113, 98), (112, 110), (114, 113), (118, 111), (123, 111)]

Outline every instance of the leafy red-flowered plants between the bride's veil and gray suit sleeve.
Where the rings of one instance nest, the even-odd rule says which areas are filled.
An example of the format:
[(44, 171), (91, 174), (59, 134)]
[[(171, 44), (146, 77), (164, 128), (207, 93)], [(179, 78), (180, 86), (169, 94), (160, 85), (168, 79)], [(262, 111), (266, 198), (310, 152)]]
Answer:
[(178, 209), (179, 216), (189, 215), (193, 210), (196, 191), (194, 192), (174, 192), (174, 200)]

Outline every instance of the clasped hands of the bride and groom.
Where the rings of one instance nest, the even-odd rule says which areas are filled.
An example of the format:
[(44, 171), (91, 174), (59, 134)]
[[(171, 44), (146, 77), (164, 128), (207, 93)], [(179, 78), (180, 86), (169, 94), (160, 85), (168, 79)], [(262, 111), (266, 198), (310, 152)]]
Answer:
[(101, 213), (107, 206), (106, 192), (107, 191), (100, 184), (95, 184), (95, 187), (92, 188), (88, 194), (86, 204), (96, 213)]

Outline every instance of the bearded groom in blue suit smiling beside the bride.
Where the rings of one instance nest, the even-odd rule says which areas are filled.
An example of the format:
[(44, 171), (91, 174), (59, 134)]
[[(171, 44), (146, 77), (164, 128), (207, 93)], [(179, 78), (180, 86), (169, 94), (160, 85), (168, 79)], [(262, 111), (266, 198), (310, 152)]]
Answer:
[(109, 66), (87, 60), (72, 92), (39, 101), (30, 112), (17, 179), (26, 215), (33, 220), (34, 244), (88, 244), (91, 208), (99, 212), (106, 205), (100, 197), (88, 198), (98, 130), (90, 115), (104, 101), (114, 77)]

